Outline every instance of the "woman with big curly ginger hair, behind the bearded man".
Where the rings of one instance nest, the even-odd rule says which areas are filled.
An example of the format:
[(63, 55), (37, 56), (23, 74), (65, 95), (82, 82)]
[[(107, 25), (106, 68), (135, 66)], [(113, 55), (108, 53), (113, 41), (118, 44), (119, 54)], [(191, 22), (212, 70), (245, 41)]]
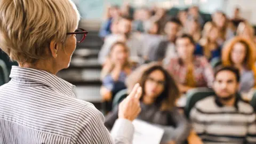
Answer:
[(223, 47), (223, 65), (238, 68), (241, 75), (239, 92), (248, 93), (255, 86), (256, 68), (254, 62), (255, 47), (249, 39), (234, 37)]

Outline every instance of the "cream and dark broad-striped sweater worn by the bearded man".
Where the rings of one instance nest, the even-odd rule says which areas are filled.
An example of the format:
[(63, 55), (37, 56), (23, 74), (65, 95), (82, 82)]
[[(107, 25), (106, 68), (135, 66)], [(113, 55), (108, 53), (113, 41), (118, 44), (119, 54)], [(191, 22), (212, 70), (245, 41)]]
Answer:
[(241, 100), (228, 107), (213, 96), (207, 97), (196, 103), (190, 119), (204, 143), (256, 143), (253, 108)]

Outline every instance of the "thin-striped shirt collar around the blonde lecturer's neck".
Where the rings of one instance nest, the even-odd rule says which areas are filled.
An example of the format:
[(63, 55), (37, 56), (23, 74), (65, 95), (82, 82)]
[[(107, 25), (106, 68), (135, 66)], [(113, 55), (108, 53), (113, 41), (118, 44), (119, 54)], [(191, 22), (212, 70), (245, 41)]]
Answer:
[(61, 94), (73, 97), (74, 85), (44, 70), (12, 66), (10, 78), (24, 79), (50, 86)]

